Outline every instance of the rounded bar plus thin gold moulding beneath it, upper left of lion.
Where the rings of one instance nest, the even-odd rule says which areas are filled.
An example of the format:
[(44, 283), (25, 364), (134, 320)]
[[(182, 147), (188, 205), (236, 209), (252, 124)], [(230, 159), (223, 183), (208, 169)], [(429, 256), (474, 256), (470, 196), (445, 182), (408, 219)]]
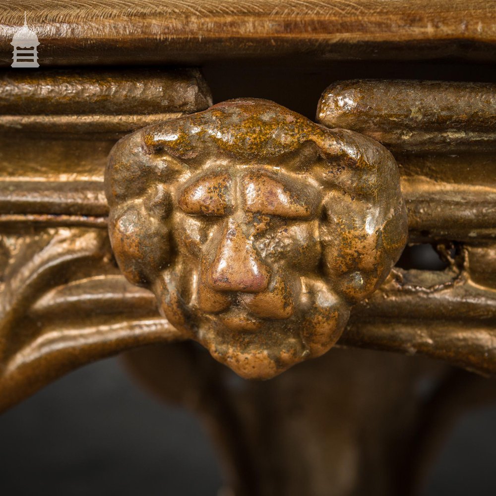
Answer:
[(115, 140), (211, 104), (210, 90), (197, 69), (41, 69), (0, 74), (0, 132), (16, 139), (25, 134)]

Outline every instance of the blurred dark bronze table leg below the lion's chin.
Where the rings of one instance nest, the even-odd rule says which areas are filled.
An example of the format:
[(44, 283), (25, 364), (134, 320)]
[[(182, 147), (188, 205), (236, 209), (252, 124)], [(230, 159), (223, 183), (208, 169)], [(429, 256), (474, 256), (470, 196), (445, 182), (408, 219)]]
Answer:
[(240, 379), (191, 343), (125, 360), (204, 421), (236, 496), (413, 495), (457, 416), (496, 398), (493, 381), (469, 372), (365, 350), (333, 350), (264, 382)]

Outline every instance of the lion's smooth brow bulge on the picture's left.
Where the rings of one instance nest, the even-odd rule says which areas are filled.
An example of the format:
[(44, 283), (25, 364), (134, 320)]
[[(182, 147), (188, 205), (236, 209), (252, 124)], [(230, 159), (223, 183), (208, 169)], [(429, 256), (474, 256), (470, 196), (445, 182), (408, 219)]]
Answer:
[(222, 216), (230, 210), (228, 176), (204, 176), (186, 186), (179, 197), (179, 207), (186, 214)]

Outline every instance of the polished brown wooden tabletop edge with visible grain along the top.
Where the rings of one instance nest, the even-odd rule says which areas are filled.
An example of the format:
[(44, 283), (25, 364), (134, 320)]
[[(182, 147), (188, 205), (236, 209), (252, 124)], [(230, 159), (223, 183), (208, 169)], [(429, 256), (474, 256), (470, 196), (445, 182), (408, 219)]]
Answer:
[(13, 0), (0, 9), (1, 65), (24, 11), (42, 65), (496, 59), (494, 0)]

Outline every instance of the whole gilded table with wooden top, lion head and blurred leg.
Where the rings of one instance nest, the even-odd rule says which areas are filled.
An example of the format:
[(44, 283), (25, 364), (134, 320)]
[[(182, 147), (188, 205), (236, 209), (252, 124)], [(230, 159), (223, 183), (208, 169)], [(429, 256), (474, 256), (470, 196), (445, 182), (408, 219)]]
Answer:
[[(495, 1), (25, 4), (0, 9), (0, 410), (131, 350), (205, 420), (226, 493), (412, 495), (460, 399), (494, 399), (450, 366), (496, 373), (496, 88), (410, 79), (494, 82)], [(25, 8), (41, 68), (16, 72)], [(332, 86), (319, 124), (186, 116), (212, 104), (199, 72), (148, 62), (307, 116)], [(187, 338), (245, 377), (336, 346), (245, 381)]]

